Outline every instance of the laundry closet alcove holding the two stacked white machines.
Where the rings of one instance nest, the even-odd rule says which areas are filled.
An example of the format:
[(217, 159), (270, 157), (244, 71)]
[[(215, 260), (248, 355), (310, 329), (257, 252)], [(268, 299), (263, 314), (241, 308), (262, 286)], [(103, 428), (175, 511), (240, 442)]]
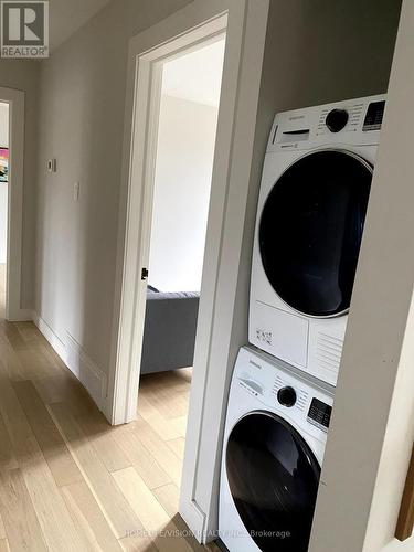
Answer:
[[(247, 533), (246, 539), (224, 538), (231, 552), (322, 552), (315, 543), (323, 539), (315, 535), (315, 528), (310, 538), (314, 508), (320, 480), (326, 486), (323, 452), (335, 415), (336, 385), (342, 380), (342, 347), (386, 112), (400, 9), (396, 0), (270, 1), (245, 230), (250, 255), (242, 259), (237, 290), (245, 314), (238, 327), (240, 344), (250, 346), (238, 353), (233, 376), (229, 374), (220, 467), (219, 528), (223, 533), (230, 529), (233, 535)], [(342, 185), (346, 181), (351, 184), (349, 193)], [(332, 195), (323, 204), (307, 184), (330, 189)], [(305, 245), (291, 235), (300, 209), (298, 234), (316, 227)], [(335, 216), (323, 225), (320, 221), (327, 209)], [(341, 224), (335, 226), (338, 220)], [(333, 237), (327, 235), (329, 229)], [(320, 251), (309, 254), (318, 245)], [(333, 251), (328, 268), (335, 265), (335, 282), (328, 290), (327, 280), (323, 290), (320, 285), (328, 265), (311, 264), (323, 256), (323, 247)], [(367, 391), (367, 402), (371, 392), (374, 385)], [(354, 406), (361, 407), (359, 397)], [(369, 408), (362, 412), (367, 415)], [(352, 428), (350, 424), (349, 432)], [(268, 447), (274, 447), (270, 453), (285, 473), (300, 471), (300, 480), (272, 471)], [(335, 454), (338, 447), (336, 453), (330, 450), (330, 461)], [(341, 454), (347, 464), (344, 448)], [(253, 464), (256, 470), (250, 468)], [(297, 500), (295, 493), (300, 495)], [(343, 508), (346, 516), (348, 498), (341, 503), (338, 497), (331, 508)], [(272, 517), (275, 501), (285, 517), (272, 526), (270, 519), (277, 516), (273, 512)], [(327, 503), (322, 500), (316, 509), (318, 532), (323, 531), (318, 508), (326, 513)], [(296, 520), (295, 513), (286, 513), (289, 508), (301, 512)], [(266, 529), (273, 534), (270, 540), (263, 537)], [(350, 543), (351, 538), (336, 550), (353, 552)], [(332, 549), (327, 544), (325, 550)]]

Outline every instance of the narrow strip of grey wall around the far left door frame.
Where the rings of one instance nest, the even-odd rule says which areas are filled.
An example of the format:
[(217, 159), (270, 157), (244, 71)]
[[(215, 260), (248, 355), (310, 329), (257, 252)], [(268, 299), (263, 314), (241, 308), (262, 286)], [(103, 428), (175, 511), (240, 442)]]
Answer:
[(33, 307), (39, 70), (39, 62), (0, 60), (0, 86), (25, 93), (21, 306), (26, 309)]

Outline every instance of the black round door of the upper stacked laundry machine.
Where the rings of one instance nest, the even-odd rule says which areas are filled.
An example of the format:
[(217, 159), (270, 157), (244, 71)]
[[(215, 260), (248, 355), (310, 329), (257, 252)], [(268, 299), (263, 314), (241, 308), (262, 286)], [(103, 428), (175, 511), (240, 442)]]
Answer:
[(346, 151), (320, 150), (293, 163), (273, 187), (259, 222), (266, 276), (305, 315), (350, 305), (372, 167)]

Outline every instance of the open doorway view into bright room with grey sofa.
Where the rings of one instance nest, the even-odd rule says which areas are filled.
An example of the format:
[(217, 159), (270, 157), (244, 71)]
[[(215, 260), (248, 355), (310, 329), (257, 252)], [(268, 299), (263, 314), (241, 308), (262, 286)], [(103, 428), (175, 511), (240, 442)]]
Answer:
[(217, 35), (161, 66), (139, 392), (161, 394), (168, 418), (187, 413), (224, 47)]

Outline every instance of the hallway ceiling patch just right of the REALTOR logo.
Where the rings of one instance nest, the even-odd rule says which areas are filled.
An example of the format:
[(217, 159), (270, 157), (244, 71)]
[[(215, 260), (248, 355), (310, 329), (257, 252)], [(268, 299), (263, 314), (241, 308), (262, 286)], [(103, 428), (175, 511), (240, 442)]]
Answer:
[(50, 47), (53, 51), (110, 0), (49, 0)]

